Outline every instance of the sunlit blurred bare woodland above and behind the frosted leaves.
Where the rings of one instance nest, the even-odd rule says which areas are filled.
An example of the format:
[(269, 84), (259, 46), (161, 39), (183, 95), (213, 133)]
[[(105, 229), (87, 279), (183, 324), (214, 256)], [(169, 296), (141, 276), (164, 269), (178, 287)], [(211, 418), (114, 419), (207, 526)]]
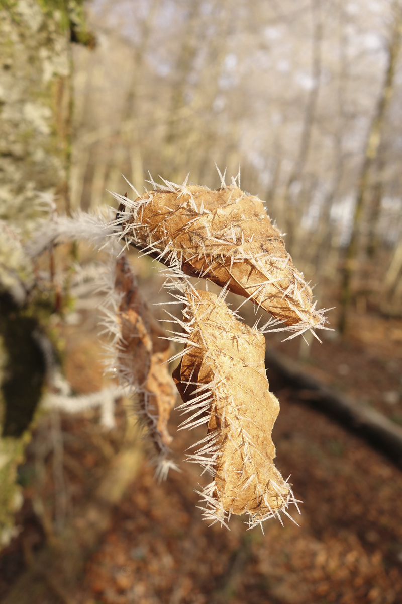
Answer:
[(353, 306), (400, 312), (398, 10), (92, 2), (97, 46), (73, 51), (72, 207), (110, 204), (122, 173), (139, 191), (148, 170), (215, 188), (214, 162), (229, 181), (240, 164), (323, 305), (339, 309), (349, 255)]

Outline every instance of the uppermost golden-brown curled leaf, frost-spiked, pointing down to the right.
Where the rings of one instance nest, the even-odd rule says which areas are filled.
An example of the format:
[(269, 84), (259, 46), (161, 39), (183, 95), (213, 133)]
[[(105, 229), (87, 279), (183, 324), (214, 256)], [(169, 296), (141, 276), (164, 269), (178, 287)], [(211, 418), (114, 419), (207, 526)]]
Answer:
[(254, 300), (288, 326), (297, 324), (299, 333), (324, 326), (311, 289), (260, 199), (236, 184), (216, 191), (167, 185), (134, 202), (120, 198), (130, 214), (117, 223), (130, 243)]

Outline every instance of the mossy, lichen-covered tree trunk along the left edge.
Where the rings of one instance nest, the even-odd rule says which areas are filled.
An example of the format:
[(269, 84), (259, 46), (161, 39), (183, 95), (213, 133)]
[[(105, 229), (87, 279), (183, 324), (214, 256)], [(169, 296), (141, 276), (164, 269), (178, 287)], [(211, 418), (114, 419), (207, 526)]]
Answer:
[[(13, 536), (13, 512), (22, 503), (16, 469), (45, 379), (39, 310), (27, 297), (34, 277), (19, 236), (33, 228), (38, 191), (53, 193), (58, 209), (69, 211), (78, 4), (61, 2), (53, 11), (45, 1), (0, 2), (0, 221), (8, 225), (0, 234), (0, 547)], [(40, 316), (51, 312), (41, 299)]]

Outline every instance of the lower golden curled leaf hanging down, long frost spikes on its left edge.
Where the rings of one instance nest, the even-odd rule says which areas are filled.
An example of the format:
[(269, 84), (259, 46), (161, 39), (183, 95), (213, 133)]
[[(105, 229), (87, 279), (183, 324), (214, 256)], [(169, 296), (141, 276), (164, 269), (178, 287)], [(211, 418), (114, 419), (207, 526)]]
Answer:
[(204, 515), (224, 522), (248, 513), (254, 526), (287, 514), (295, 500), (273, 461), (279, 402), (265, 375), (265, 338), (237, 321), (222, 296), (193, 289), (186, 298), (187, 344), (173, 377), (181, 408), (193, 411), (182, 426), (208, 423), (207, 438), (190, 456), (214, 477), (203, 492)]

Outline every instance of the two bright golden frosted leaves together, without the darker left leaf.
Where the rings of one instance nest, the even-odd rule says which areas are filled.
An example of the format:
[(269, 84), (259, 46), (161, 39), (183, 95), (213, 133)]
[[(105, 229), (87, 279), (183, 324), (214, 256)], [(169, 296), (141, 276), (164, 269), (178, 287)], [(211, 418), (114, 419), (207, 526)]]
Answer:
[[(135, 201), (116, 195), (121, 206), (115, 226), (126, 244), (162, 261), (166, 287), (181, 292), (173, 295), (184, 304), (184, 321), (169, 313), (183, 330), (171, 336), (184, 344), (172, 357), (181, 358), (174, 379), (181, 409), (191, 412), (181, 428), (207, 423), (206, 438), (188, 456), (213, 476), (200, 493), (204, 516), (225, 524), (231, 514), (247, 513), (254, 526), (280, 518), (279, 512), (288, 515), (297, 501), (273, 462), (279, 403), (265, 376), (263, 333), (315, 335), (314, 329), (327, 329), (324, 311), (316, 310), (263, 203), (240, 189), (240, 175), (230, 186), (221, 177), (216, 191), (187, 185), (187, 179), (181, 186), (151, 182), (154, 190)], [(222, 295), (196, 290), (190, 276), (213, 281)], [(275, 320), (260, 330), (246, 326), (225, 304), (227, 291), (253, 300)]]

